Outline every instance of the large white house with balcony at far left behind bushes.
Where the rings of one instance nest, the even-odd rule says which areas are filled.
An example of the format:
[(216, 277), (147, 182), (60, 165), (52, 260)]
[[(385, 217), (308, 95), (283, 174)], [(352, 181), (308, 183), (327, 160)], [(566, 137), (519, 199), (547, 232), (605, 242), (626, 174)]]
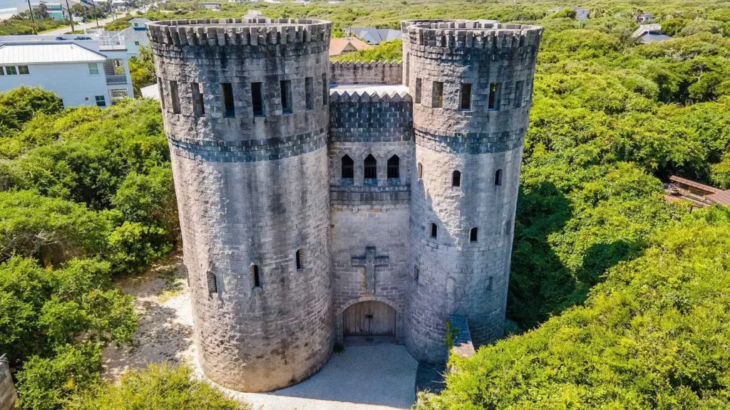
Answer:
[(53, 91), (65, 107), (133, 96), (124, 42), (98, 36), (0, 36), (0, 91), (21, 85)]

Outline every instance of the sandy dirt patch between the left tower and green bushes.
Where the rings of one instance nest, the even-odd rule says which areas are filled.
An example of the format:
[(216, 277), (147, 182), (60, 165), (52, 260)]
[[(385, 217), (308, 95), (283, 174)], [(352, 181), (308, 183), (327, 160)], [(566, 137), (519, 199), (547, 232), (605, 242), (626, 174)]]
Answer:
[(115, 382), (130, 368), (165, 360), (193, 363), (193, 309), (183, 255), (159, 261), (145, 274), (120, 279), (116, 285), (135, 297), (139, 329), (131, 344), (104, 350), (104, 379)]

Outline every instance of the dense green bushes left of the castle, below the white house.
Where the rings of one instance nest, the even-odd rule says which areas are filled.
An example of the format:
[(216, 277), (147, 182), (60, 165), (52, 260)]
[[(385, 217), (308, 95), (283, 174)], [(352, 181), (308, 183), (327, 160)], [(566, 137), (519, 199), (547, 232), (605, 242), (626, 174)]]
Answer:
[(113, 276), (177, 241), (169, 152), (155, 101), (62, 111), (19, 88), (0, 95), (0, 127), (0, 351), (20, 406), (60, 409), (137, 328)]

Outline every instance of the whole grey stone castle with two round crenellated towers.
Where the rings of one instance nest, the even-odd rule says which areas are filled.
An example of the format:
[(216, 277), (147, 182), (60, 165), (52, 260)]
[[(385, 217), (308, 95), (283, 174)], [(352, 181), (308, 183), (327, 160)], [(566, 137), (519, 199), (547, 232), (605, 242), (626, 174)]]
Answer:
[(210, 379), (286, 387), (348, 342), (442, 362), (452, 316), (502, 336), (542, 28), (404, 21), (400, 63), (330, 63), (323, 20), (148, 28)]

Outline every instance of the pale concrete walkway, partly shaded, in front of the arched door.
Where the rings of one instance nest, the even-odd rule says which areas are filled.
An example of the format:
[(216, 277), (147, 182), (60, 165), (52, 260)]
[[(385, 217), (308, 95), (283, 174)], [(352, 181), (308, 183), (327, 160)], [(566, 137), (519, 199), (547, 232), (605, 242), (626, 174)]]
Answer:
[(417, 368), (404, 346), (351, 346), (295, 386), (269, 393), (227, 392), (253, 410), (410, 409)]

